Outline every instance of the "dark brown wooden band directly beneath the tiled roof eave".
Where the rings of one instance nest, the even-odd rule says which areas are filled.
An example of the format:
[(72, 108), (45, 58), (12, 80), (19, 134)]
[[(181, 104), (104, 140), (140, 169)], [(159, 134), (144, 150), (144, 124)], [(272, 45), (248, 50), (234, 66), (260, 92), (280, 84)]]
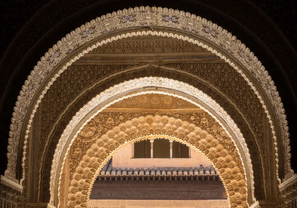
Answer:
[(90, 200), (218, 200), (227, 199), (214, 176), (106, 176), (93, 185)]

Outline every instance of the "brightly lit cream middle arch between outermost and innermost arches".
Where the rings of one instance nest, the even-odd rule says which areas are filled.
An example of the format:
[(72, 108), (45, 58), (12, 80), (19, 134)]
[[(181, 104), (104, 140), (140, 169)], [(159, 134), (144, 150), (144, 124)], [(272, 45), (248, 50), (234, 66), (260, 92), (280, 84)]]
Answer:
[[(133, 85), (131, 85), (131, 83), (133, 83)], [(155, 89), (155, 87), (157, 87), (157, 88), (166, 88), (167, 91), (168, 91), (168, 88), (169, 88), (169, 89), (175, 90), (177, 92), (182, 92), (182, 94), (179, 94), (179, 93), (168, 94), (168, 93), (165, 93), (165, 92), (162, 92), (162, 91), (153, 91), (153, 90), (151, 90), (151, 91), (148, 91), (147, 90), (145, 92), (140, 92), (140, 93), (136, 93), (136, 94), (134, 93), (133, 94), (133, 91), (135, 92), (135, 90), (138, 91), (139, 89), (144, 89), (144, 87), (146, 87), (146, 86), (147, 87), (153, 87), (154, 89)], [(116, 92), (117, 89), (120, 92)], [(130, 92), (130, 95), (123, 96), (123, 95), (127, 95), (127, 92), (125, 93), (125, 91)], [(118, 94), (118, 93), (121, 96), (120, 96), (119, 99), (116, 100), (117, 97), (115, 95)], [(55, 157), (54, 157), (54, 160), (53, 160), (54, 162), (53, 162), (53, 166), (52, 166), (52, 172), (56, 172), (56, 170), (58, 170), (57, 169), (57, 166), (56, 166), (56, 165), (58, 165), (57, 161), (59, 161), (59, 159), (58, 159), (59, 156), (60, 157), (62, 156), (62, 155), (60, 155), (58, 153), (62, 151), (61, 148), (63, 148), (66, 145), (67, 141), (70, 141), (69, 139), (66, 139), (67, 138), (66, 135), (69, 135), (70, 136), (69, 133), (71, 133), (71, 132), (74, 131), (74, 128), (76, 128), (75, 126), (78, 125), (77, 122), (79, 120), (81, 120), (81, 119), (85, 120), (84, 117), (86, 115), (88, 115), (88, 114), (92, 114), (93, 115), (93, 116), (89, 117), (89, 119), (83, 124), (83, 126), (84, 126), (97, 113), (99, 113), (101, 110), (103, 110), (104, 108), (106, 108), (110, 104), (113, 104), (113, 103), (115, 103), (115, 102), (117, 102), (119, 100), (125, 99), (125, 98), (129, 98), (131, 96), (136, 96), (136, 95), (145, 94), (145, 93), (160, 93), (160, 94), (167, 94), (167, 95), (171, 95), (171, 96), (176, 96), (176, 97), (182, 98), (182, 99), (184, 99), (186, 101), (189, 101), (189, 102), (191, 102), (193, 104), (196, 104), (197, 106), (201, 107), (202, 109), (205, 109), (207, 112), (209, 112), (209, 110), (207, 110), (207, 109), (211, 109), (211, 112), (217, 112), (218, 113), (218, 116), (220, 116), (222, 118), (223, 122), (226, 122), (226, 125), (225, 124), (223, 125), (222, 122), (221, 122), (222, 120), (217, 119), (216, 116), (214, 116), (211, 112), (209, 112), (209, 113), (214, 118), (216, 118), (216, 120), (222, 126), (228, 126), (228, 128), (231, 128), (231, 130), (229, 130), (229, 131), (232, 131), (232, 134), (235, 135), (235, 136), (237, 136), (237, 139), (236, 139), (237, 142), (244, 141), (244, 138), (242, 137), (242, 134), (240, 133), (240, 130), (237, 128), (236, 124), (230, 118), (230, 116), (227, 115), (226, 112), (218, 104), (216, 104), (210, 97), (208, 97), (207, 95), (203, 94), (198, 89), (196, 89), (196, 88), (194, 88), (194, 87), (192, 87), (190, 85), (187, 85), (185, 83), (181, 83), (181, 82), (170, 80), (170, 79), (158, 78), (158, 77), (146, 77), (146, 78), (141, 78), (141, 79), (135, 79), (135, 80), (127, 81), (125, 83), (122, 83), (120, 85), (114, 86), (111, 89), (108, 89), (108, 90), (104, 91), (103, 93), (101, 93), (100, 95), (98, 95), (96, 98), (94, 98), (89, 104), (85, 105), (85, 107), (83, 107), (79, 112), (77, 112), (75, 118), (67, 126), (68, 129), (67, 128), (65, 129), (64, 134), (62, 135), (63, 137), (61, 137), (60, 142), (59, 142), (59, 145), (57, 146), (56, 154), (55, 154)], [(189, 94), (191, 96), (189, 96)], [(188, 98), (185, 98), (185, 97), (183, 97), (183, 95), (184, 96), (185, 95), (188, 95), (189, 97)], [(105, 105), (102, 104), (101, 106), (103, 106), (103, 107), (101, 107), (98, 110), (98, 106), (102, 103), (102, 101), (104, 103), (106, 97), (108, 97), (108, 98), (111, 97), (112, 99), (111, 100), (109, 99), (109, 101), (107, 103), (105, 102)], [(196, 101), (199, 101), (200, 104), (198, 104), (198, 103), (194, 102), (193, 100), (191, 100), (193, 98), (195, 98)], [(203, 107), (202, 105), (203, 106), (206, 106), (207, 109), (205, 107)], [(96, 109), (98, 110), (97, 112), (96, 112)], [(81, 126), (81, 128), (79, 129), (79, 131), (83, 128), (83, 126)], [(77, 133), (76, 133), (76, 135), (77, 135)], [(72, 139), (72, 141), (75, 139), (76, 135), (74, 136), (74, 138)], [(68, 136), (68, 138), (69, 138), (69, 136)], [(234, 142), (235, 142), (235, 144), (237, 143), (236, 141), (234, 141)], [(239, 142), (239, 143), (241, 143), (241, 142)], [(70, 143), (70, 145), (71, 145), (71, 143)], [(68, 150), (69, 150), (69, 148), (68, 148)], [(247, 153), (244, 153), (243, 155), (247, 156), (247, 160), (248, 160), (248, 156), (249, 156), (248, 149), (247, 148), (243, 148), (243, 150), (244, 151), (247, 151)], [(247, 163), (245, 164), (245, 167), (248, 168), (249, 173), (251, 173), (250, 174), (250, 181), (248, 180), (248, 183), (253, 184), (253, 182), (252, 182), (253, 181), (253, 175), (252, 175), (252, 168), (251, 168), (250, 160), (249, 161), (246, 161), (246, 162)], [(51, 174), (51, 186), (53, 186), (53, 187), (54, 187), (54, 185), (53, 185), (54, 182), (53, 181), (55, 181), (55, 177), (56, 177), (55, 175), (52, 175)], [(251, 185), (251, 189), (253, 189), (253, 186), (252, 185)], [(252, 193), (253, 193), (253, 191), (252, 191)], [(51, 196), (53, 196), (53, 195), (51, 195)]]

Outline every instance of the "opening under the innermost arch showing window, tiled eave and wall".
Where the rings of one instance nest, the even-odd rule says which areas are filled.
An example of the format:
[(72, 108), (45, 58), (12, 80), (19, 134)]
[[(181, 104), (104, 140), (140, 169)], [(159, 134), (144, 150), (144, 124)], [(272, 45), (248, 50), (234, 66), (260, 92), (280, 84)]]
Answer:
[[(169, 156), (175, 143), (191, 155), (135, 158), (134, 152), (144, 148), (136, 144), (145, 142), (150, 143), (152, 152), (168, 149)], [(88, 207), (229, 207), (219, 173), (205, 156), (186, 144), (161, 137), (131, 143), (114, 154), (99, 172), (89, 197)]]

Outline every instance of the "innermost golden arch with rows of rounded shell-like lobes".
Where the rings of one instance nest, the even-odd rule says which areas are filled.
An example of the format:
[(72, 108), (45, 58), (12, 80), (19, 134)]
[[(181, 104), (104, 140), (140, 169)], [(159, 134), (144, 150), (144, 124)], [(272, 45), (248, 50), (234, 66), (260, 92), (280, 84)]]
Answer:
[(231, 207), (247, 208), (247, 180), (243, 164), (234, 161), (236, 153), (196, 125), (168, 116), (135, 118), (99, 137), (76, 168), (67, 205), (86, 207), (97, 174), (112, 155), (132, 142), (157, 137), (182, 142), (206, 156), (220, 173)]

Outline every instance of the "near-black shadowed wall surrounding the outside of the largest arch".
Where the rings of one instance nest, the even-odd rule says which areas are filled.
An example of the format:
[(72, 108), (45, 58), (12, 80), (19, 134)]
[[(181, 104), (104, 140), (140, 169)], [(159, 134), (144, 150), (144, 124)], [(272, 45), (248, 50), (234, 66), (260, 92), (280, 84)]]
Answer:
[(261, 60), (289, 121), (297, 171), (296, 0), (3, 0), (0, 1), (0, 174), (6, 169), (13, 107), (30, 71), (57, 41), (118, 9), (149, 5), (195, 13), (232, 32)]

